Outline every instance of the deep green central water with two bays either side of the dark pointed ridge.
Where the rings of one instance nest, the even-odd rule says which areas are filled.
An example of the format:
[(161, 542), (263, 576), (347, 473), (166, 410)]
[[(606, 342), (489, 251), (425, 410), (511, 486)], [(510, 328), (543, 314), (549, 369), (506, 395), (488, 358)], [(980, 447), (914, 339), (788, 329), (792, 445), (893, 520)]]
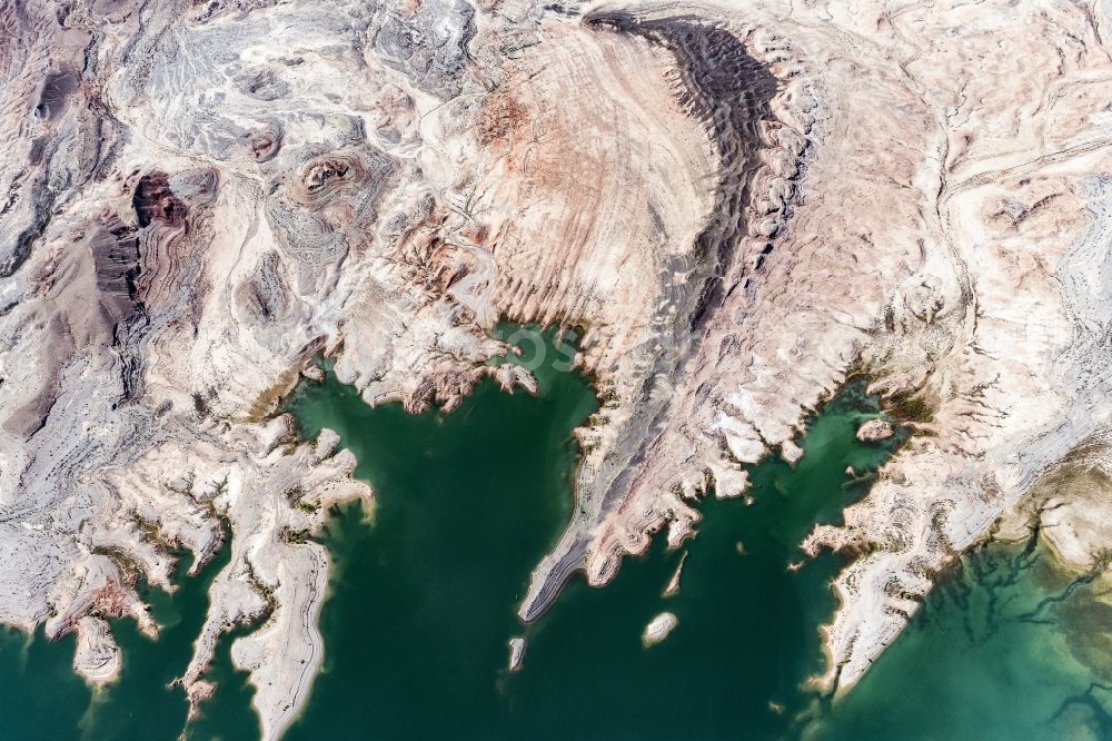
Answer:
[[(324, 540), (336, 569), (324, 609), (325, 670), (292, 739), (736, 737), (791, 732), (822, 669), (817, 625), (834, 606), (838, 563), (793, 572), (815, 522), (861, 496), (895, 441), (863, 445), (877, 415), (855, 385), (811, 424), (793, 468), (753, 474), (756, 503), (709, 501), (678, 595), (662, 591), (682, 555), (658, 546), (628, 560), (605, 590), (573, 583), (523, 628), (530, 570), (566, 522), (572, 429), (594, 409), (586, 383), (547, 373), (538, 398), (480, 386), (456, 412), (370, 409), (334, 381), (290, 401), (302, 434), (337, 431), (377, 504), (373, 524), (340, 513)], [(679, 626), (646, 649), (658, 612)], [(507, 640), (525, 633), (518, 673)]]

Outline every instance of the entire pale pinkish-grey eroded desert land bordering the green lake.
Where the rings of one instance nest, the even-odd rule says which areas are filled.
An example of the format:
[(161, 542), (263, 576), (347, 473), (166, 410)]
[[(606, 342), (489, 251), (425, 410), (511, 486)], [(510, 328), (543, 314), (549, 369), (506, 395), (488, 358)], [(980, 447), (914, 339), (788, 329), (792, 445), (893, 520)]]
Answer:
[[(1106, 428), (1100, 9), (0, 10), (0, 620), (78, 631), (93, 681), (106, 618), (157, 631), (137, 574), (229, 547), (181, 681), (202, 699), (219, 636), (259, 623), (232, 656), (266, 737), (294, 718), (328, 570), (307, 534), (369, 497), (335, 436), (274, 416), (319, 353), (368, 403), (450, 408), (532, 383), (486, 365), (498, 317), (586, 327), (604, 405), (526, 620), (804, 454), (807, 411), (870, 373), (923, 434), (806, 543), (867, 553), (828, 629), (841, 688)], [(1098, 550), (1099, 520), (1054, 512), (1063, 553)]]

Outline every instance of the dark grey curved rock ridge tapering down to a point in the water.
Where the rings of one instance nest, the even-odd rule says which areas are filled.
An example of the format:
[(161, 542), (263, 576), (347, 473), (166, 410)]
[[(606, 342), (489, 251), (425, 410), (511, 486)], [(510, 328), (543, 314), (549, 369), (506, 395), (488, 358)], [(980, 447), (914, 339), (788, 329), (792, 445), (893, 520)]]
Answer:
[[(763, 146), (758, 125), (772, 118), (768, 103), (777, 90), (776, 79), (735, 34), (695, 17), (642, 20), (635, 13), (595, 13), (583, 22), (600, 32), (643, 37), (674, 57), (677, 81), (673, 92), (712, 140), (718, 158), (717, 186), (714, 207), (694, 244), (662, 266), (659, 309), (651, 320), (656, 328), (654, 360), (646, 364), (639, 387), (626, 402), (633, 409), (629, 419), (612, 432), (616, 444), (597, 472), (580, 476), (579, 512), (588, 516), (573, 520), (554, 554), (557, 562), (550, 572), (535, 576), (522, 611), (526, 621), (536, 620), (583, 567), (595, 530), (629, 496), (643, 475), (646, 454), (676, 422), (669, 407), (676, 387), (686, 383), (684, 365), (704, 339), (708, 314), (719, 310), (727, 292), (737, 288), (727, 280), (738, 277), (734, 270), (741, 241), (747, 236), (749, 184), (761, 167), (757, 152)], [(677, 275), (688, 277), (677, 283)]]

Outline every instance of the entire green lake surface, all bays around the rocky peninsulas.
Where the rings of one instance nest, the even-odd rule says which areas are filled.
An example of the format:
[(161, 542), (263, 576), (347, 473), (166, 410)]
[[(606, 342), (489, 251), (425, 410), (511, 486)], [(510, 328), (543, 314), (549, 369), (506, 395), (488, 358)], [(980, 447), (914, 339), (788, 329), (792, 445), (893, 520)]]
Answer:
[[(566, 346), (517, 334), (528, 342), (515, 362), (546, 354), (537, 396), (488, 382), (450, 414), (408, 415), (395, 404), (368, 408), (329, 376), (288, 401), (302, 437), (339, 433), (376, 494), (373, 513), (339, 508), (321, 535), (335, 564), (325, 665), (288, 739), (1112, 738), (1112, 610), (1092, 600), (1106, 587), (1058, 571), (1037, 541), (963, 559), (833, 707), (806, 686), (823, 669), (818, 626), (835, 607), (841, 563), (825, 554), (788, 565), (802, 561), (797, 544), (813, 525), (838, 522), (900, 444), (854, 438), (881, 414), (862, 383), (812, 417), (797, 464), (754, 467), (752, 504), (699, 503), (704, 522), (683, 549), (658, 537), (605, 589), (577, 579), (522, 625), (530, 571), (569, 516), (572, 431), (597, 401), (560, 365)], [(685, 554), (681, 591), (665, 597)], [(227, 549), (188, 577), (183, 560), (176, 593), (146, 592), (163, 625), (157, 641), (115, 621), (123, 674), (96, 693), (72, 674), (72, 636), (0, 633), (4, 738), (177, 739), (185, 696), (166, 683), (188, 662), (226, 561)], [(665, 610), (678, 626), (644, 646), (645, 625)], [(515, 635), (528, 646), (510, 673)], [(220, 643), (209, 673), (219, 689), (190, 739), (258, 737), (234, 639)]]

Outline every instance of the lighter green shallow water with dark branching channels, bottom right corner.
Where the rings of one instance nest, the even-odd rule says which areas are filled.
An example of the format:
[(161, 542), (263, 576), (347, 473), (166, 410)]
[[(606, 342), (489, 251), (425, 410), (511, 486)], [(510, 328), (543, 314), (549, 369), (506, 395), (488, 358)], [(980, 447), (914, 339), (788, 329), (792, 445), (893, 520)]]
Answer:
[(977, 549), (816, 738), (1112, 739), (1106, 590), (1035, 540)]

